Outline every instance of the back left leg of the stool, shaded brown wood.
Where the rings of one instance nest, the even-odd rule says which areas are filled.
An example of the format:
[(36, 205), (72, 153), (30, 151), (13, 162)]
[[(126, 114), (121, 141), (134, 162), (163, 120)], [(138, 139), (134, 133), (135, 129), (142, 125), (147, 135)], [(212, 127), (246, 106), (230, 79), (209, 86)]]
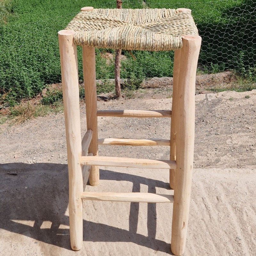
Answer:
[[(92, 153), (93, 156), (98, 156), (97, 91), (94, 47), (83, 46), (83, 73), (87, 129), (93, 131), (88, 152)], [(99, 166), (93, 165), (90, 171), (89, 183), (91, 186), (97, 186), (99, 185), (99, 181)]]

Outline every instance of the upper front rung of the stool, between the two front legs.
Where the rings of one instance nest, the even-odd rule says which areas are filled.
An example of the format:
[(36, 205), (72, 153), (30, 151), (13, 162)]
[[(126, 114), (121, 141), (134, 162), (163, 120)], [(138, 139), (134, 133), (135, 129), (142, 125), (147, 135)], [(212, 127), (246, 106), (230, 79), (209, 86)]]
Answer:
[(175, 169), (175, 161), (126, 158), (114, 156), (82, 156), (80, 164), (100, 166), (120, 166), (148, 169)]

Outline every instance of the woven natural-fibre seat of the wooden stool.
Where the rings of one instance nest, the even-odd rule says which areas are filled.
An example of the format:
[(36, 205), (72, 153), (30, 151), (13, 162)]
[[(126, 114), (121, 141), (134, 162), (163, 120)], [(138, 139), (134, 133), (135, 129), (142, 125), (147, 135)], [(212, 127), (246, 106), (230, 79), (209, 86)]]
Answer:
[(183, 35), (198, 35), (191, 14), (164, 8), (82, 11), (66, 29), (77, 45), (124, 50), (175, 50)]

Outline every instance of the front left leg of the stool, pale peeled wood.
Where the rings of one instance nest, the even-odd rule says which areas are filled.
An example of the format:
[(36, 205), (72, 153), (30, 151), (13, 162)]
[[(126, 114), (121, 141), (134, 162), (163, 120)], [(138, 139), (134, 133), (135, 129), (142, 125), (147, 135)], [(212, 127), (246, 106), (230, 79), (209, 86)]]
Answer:
[(59, 31), (62, 93), (66, 123), (69, 183), (70, 244), (75, 251), (83, 243), (83, 178), (76, 45), (73, 30)]

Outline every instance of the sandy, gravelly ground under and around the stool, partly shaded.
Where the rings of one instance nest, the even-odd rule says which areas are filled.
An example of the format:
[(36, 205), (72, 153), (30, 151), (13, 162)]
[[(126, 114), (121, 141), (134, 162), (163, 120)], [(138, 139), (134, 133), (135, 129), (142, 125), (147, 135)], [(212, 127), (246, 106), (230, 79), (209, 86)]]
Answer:
[[(171, 98), (154, 98), (99, 101), (98, 108), (171, 109)], [(256, 254), (255, 100), (256, 90), (196, 95), (186, 256)], [(81, 115), (84, 134), (84, 104)], [(98, 121), (100, 138), (170, 136), (166, 118)], [(171, 204), (98, 201), (84, 202), (84, 247), (73, 252), (63, 113), (0, 129), (0, 255), (172, 255)], [(169, 150), (100, 146), (99, 154), (168, 159)], [(100, 185), (86, 190), (172, 194), (168, 173), (103, 167)]]

